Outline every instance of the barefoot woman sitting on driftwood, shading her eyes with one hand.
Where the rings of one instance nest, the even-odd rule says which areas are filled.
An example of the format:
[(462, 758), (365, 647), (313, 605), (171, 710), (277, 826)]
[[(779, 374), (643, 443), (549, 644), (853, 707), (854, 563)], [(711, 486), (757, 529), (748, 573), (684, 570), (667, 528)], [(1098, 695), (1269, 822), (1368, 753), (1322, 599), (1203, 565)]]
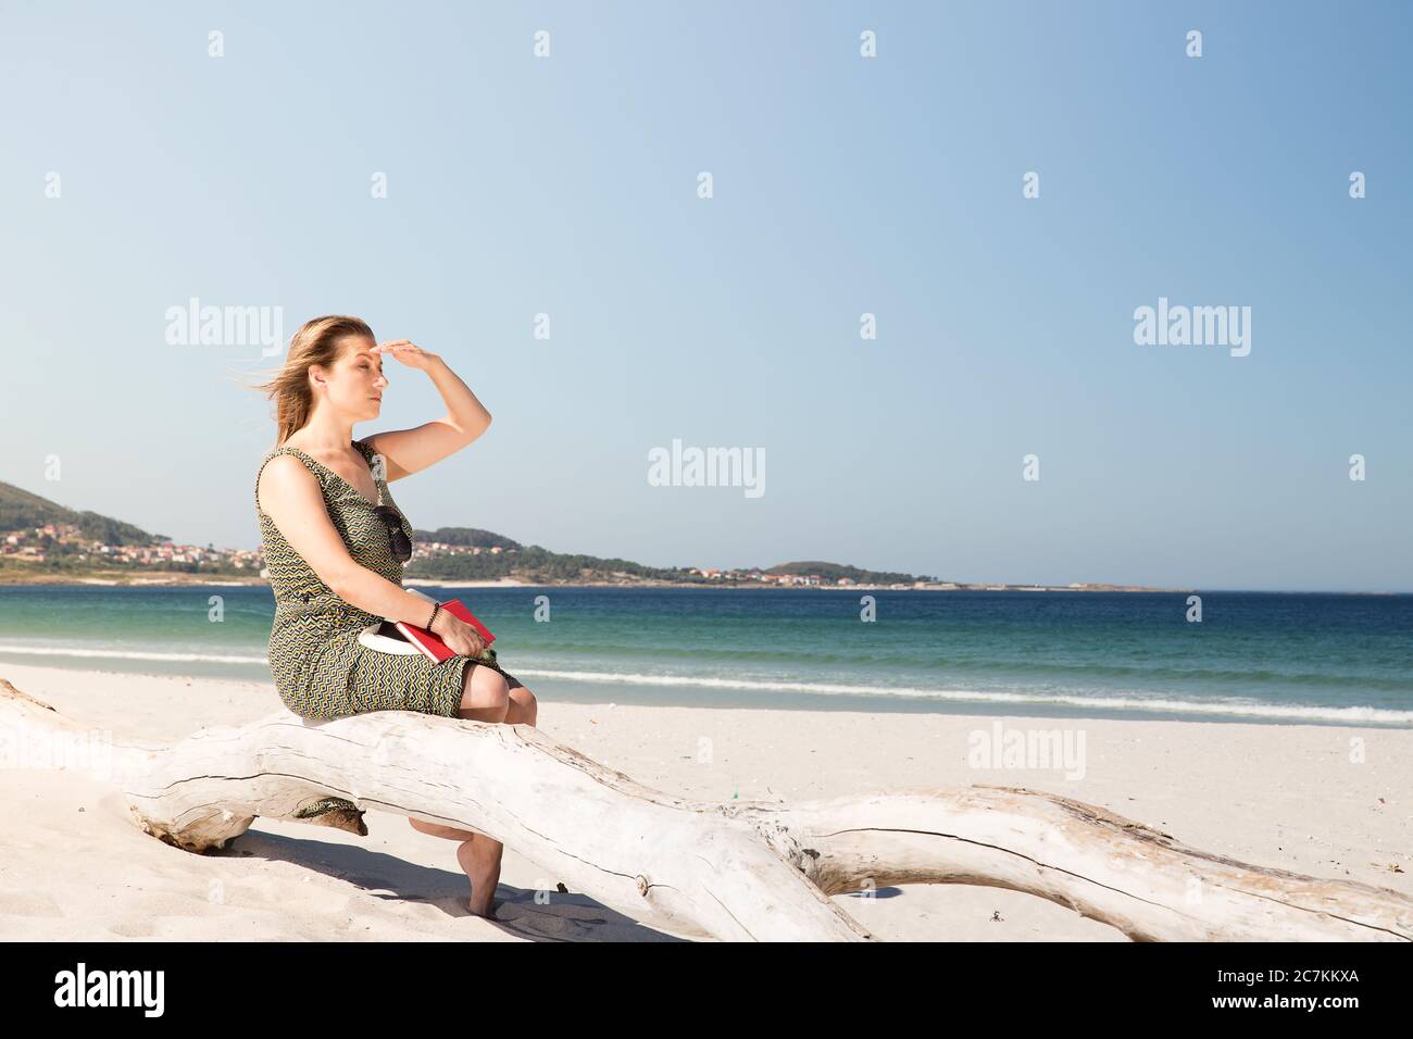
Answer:
[[(447, 414), (355, 441), (353, 424), (382, 409), (389, 355), (427, 373)], [(490, 413), (439, 356), (407, 339), (377, 344), (350, 317), (307, 322), (284, 368), (259, 389), (276, 401), (278, 423), (276, 448), (256, 476), (256, 515), (276, 595), (270, 670), (284, 704), (307, 718), (422, 711), (534, 725), (534, 694), (500, 669), (476, 630), (403, 589), (413, 527), (387, 491), (476, 440)], [(359, 632), (383, 618), (431, 623), (458, 656), (434, 664), (362, 645)], [(321, 806), (352, 809), (342, 799)], [(462, 843), (456, 859), (471, 879), (471, 912), (490, 916), (503, 845), (471, 830), (408, 823)]]

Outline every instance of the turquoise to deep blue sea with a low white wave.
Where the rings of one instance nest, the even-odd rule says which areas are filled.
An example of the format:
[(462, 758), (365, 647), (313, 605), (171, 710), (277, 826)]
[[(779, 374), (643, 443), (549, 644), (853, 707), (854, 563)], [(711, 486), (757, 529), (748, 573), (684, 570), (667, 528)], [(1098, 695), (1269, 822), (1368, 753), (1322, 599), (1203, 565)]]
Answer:
[[(541, 700), (1413, 724), (1413, 597), (425, 588)], [(550, 601), (534, 619), (536, 597)], [(220, 597), (219, 619), (211, 598)], [(264, 587), (0, 588), (4, 662), (268, 681)]]

